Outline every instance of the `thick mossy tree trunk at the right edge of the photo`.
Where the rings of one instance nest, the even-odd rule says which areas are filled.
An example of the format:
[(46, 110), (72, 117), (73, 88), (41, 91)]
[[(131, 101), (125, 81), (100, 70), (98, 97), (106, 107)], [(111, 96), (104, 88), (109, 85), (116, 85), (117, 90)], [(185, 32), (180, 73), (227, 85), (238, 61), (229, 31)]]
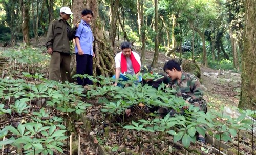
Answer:
[(242, 53), (242, 87), (239, 108), (256, 110), (255, 0), (245, 1), (244, 50)]

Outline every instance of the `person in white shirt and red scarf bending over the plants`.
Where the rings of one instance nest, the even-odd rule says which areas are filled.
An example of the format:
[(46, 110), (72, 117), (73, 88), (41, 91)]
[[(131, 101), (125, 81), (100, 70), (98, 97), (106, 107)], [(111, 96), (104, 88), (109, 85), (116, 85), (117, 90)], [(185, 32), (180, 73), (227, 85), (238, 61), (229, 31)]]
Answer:
[(141, 76), (138, 76), (140, 73), (140, 56), (132, 51), (132, 46), (129, 42), (124, 41), (121, 44), (122, 52), (118, 53), (115, 57), (116, 63), (116, 74), (112, 77), (115, 79), (115, 86), (118, 84), (119, 78), (123, 81), (129, 80), (126, 74), (136, 75), (138, 82), (142, 80)]

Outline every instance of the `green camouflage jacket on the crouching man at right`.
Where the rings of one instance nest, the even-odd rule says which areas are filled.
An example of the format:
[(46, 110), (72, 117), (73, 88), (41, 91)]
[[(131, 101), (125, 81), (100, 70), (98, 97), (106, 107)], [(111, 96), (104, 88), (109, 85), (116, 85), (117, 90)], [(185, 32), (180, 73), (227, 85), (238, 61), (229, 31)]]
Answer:
[(189, 103), (203, 99), (203, 87), (193, 74), (182, 72), (181, 81), (170, 81), (169, 87), (176, 90), (178, 97), (183, 97)]

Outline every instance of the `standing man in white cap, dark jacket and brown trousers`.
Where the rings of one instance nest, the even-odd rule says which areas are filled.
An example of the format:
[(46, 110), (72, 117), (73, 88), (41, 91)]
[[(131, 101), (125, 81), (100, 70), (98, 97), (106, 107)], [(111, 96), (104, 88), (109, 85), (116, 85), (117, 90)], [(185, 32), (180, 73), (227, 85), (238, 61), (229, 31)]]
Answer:
[(60, 8), (60, 17), (53, 20), (48, 28), (46, 47), (51, 55), (49, 80), (72, 82), (70, 70), (70, 40), (74, 39), (77, 27), (73, 29), (67, 22), (73, 14), (69, 7)]

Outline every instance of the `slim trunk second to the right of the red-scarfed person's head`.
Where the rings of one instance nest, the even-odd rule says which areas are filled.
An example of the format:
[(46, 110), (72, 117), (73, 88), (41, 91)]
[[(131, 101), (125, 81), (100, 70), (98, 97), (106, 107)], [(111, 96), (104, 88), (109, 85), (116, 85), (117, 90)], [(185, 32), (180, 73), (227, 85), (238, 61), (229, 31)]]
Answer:
[(153, 61), (151, 66), (155, 67), (158, 61), (158, 55), (159, 55), (159, 32), (158, 32), (158, 0), (155, 0), (155, 32), (156, 32), (156, 36), (155, 36), (155, 53), (154, 53), (154, 57), (153, 57)]

